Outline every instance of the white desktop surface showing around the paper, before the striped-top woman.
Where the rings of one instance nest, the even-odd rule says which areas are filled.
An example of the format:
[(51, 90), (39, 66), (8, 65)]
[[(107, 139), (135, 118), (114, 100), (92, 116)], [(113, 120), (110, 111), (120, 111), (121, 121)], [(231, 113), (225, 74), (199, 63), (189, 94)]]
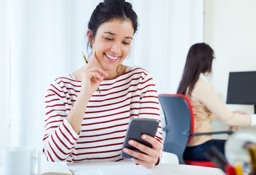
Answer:
[[(82, 170), (96, 169), (104, 166), (118, 166), (118, 165), (134, 165), (133, 162), (79, 162), (79, 163), (67, 163), (68, 168), (75, 173)], [(136, 165), (134, 165), (136, 166)], [(204, 166), (193, 166), (183, 164), (159, 164), (160, 167), (171, 173), (177, 173), (180, 175), (225, 175), (225, 173), (219, 168), (209, 168)], [(122, 174), (120, 172), (120, 174)]]

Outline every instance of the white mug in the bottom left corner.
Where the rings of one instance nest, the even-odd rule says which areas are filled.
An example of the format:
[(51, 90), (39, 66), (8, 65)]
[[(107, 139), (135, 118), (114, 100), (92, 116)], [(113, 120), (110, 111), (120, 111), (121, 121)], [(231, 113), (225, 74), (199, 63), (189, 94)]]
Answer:
[(40, 154), (35, 157), (35, 148), (8, 147), (2, 153), (4, 175), (41, 175)]

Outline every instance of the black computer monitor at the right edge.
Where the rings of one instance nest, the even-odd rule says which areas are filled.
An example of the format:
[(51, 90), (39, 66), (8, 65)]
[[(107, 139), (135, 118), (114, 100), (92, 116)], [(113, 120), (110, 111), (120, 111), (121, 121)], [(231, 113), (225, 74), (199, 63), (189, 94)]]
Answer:
[(227, 104), (254, 105), (256, 114), (256, 71), (229, 72)]

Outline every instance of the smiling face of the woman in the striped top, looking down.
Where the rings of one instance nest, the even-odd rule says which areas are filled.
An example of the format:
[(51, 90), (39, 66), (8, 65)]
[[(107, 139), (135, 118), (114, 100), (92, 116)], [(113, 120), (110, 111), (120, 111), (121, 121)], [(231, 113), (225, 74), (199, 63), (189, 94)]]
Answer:
[(130, 51), (133, 33), (132, 22), (128, 20), (115, 19), (101, 24), (92, 41), (92, 50), (96, 50), (94, 65), (116, 71)]

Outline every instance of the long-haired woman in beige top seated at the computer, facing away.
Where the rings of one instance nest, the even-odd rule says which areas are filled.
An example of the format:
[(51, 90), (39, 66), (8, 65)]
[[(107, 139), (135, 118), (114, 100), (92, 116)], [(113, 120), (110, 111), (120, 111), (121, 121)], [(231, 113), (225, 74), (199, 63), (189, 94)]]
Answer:
[[(211, 132), (211, 120), (218, 118), (230, 126), (254, 126), (256, 115), (246, 115), (243, 111), (231, 112), (222, 103), (213, 85), (205, 74), (211, 73), (215, 59), (213, 49), (205, 43), (191, 46), (186, 58), (183, 77), (178, 94), (184, 94), (191, 102), (194, 114), (194, 132)], [(212, 135), (196, 136), (187, 144), (183, 158), (185, 160), (208, 160), (204, 151), (215, 145), (223, 154), (225, 140), (213, 139)]]

